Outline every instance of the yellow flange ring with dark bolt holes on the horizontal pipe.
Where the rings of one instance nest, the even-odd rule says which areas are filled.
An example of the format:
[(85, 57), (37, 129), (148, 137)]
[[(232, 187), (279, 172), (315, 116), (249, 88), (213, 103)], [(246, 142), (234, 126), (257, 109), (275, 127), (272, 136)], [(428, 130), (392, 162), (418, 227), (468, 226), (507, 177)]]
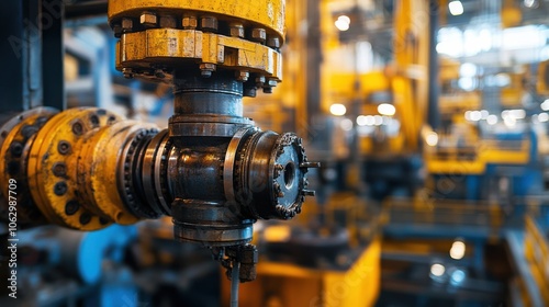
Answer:
[[(77, 178), (83, 140), (117, 121), (120, 117), (105, 110), (71, 109), (54, 116), (36, 134), (29, 157), (29, 184), (36, 205), (49, 221), (80, 230), (111, 224), (86, 195), (80, 195)], [(60, 175), (54, 171), (59, 164), (66, 170)]]

